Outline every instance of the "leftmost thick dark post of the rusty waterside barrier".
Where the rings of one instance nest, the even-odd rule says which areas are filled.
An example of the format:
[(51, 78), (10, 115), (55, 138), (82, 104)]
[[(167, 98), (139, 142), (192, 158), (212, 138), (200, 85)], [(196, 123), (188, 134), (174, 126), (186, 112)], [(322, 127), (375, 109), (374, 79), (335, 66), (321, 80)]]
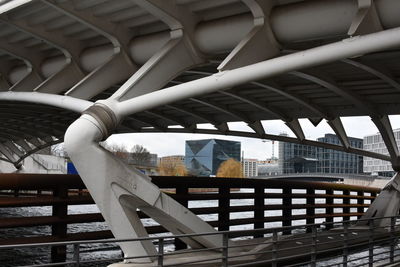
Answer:
[[(58, 187), (53, 190), (53, 196), (59, 198), (68, 198), (68, 189), (65, 187)], [(63, 220), (68, 215), (68, 205), (53, 204), (52, 215)], [(67, 235), (67, 224), (65, 222), (55, 223), (51, 226), (51, 234), (58, 238)], [(67, 248), (65, 245), (51, 247), (51, 260), (52, 262), (63, 262), (67, 257)]]

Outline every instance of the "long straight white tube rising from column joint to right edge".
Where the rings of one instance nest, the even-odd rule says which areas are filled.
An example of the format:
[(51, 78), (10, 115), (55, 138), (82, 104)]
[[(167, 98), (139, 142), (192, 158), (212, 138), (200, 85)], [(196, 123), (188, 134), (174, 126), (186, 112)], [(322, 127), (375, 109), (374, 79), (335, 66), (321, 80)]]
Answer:
[[(156, 92), (141, 95), (120, 103), (109, 103), (115, 106), (115, 113), (123, 118), (129, 114), (148, 110), (178, 100), (226, 90), (240, 84), (273, 77), (297, 69), (326, 64), (347, 57), (372, 53), (398, 47), (400, 45), (400, 28), (372, 33), (365, 36), (349, 38), (340, 42), (323, 45), (302, 52), (273, 58), (267, 61), (223, 71), (209, 77), (175, 85)], [(103, 102), (106, 104), (105, 102)]]

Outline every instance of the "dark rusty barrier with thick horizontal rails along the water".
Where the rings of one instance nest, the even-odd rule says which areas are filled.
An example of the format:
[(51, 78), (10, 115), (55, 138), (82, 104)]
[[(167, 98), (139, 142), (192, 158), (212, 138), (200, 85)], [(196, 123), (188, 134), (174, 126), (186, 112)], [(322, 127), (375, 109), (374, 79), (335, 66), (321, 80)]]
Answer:
[[(45, 214), (21, 217), (22, 214), (14, 212), (12, 216), (0, 218), (0, 231), (5, 233), (10, 228), (12, 231), (19, 231), (25, 227), (49, 226), (51, 235), (39, 231), (28, 236), (4, 234), (0, 244), (112, 237), (108, 229), (99, 229), (95, 226), (104, 221), (100, 213), (84, 213), (84, 211), (80, 211), (82, 213), (79, 214), (67, 213), (68, 208), (75, 208), (75, 205), (93, 203), (89, 195), (76, 194), (76, 190), (84, 188), (79, 176), (7, 174), (1, 175), (0, 178), (0, 190), (2, 192), (5, 190), (7, 193), (1, 195), (0, 212), (3, 208), (52, 206), (51, 216)], [(357, 219), (362, 216), (364, 210), (379, 193), (377, 188), (281, 179), (152, 177), (152, 182), (220, 231), (233, 227), (245, 229), (249, 225), (252, 225), (254, 229), (261, 229), (280, 225), (292, 226), (299, 223), (314, 224), (339, 219)], [(204, 188), (205, 186), (207, 188)], [(14, 195), (10, 195), (9, 190), (14, 192)], [(37, 190), (38, 194), (28, 196), (19, 190)], [(212, 205), (205, 205), (210, 203)], [(247, 214), (243, 215), (245, 213)], [(139, 215), (143, 220), (148, 220), (142, 212), (139, 212)], [(92, 223), (93, 227), (82, 227), (74, 232), (68, 231), (73, 224), (87, 223)], [(145, 224), (145, 226), (149, 234), (168, 233), (161, 225), (155, 223)], [(287, 228), (284, 233), (290, 234), (292, 231)], [(254, 237), (260, 236), (261, 234), (254, 234)], [(186, 248), (179, 239), (176, 241), (177, 247)], [(53, 249), (51, 255), (54, 261), (65, 258), (65, 252), (61, 248)]]

